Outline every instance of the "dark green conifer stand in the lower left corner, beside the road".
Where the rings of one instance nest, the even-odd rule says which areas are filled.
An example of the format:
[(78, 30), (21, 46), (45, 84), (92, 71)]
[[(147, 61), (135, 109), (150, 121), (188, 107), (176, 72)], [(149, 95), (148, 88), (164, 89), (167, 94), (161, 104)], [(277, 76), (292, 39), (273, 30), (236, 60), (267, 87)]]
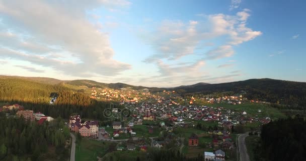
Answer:
[(64, 147), (69, 129), (60, 118), (38, 125), (0, 115), (0, 129), (0, 160), (65, 160), (69, 156)]

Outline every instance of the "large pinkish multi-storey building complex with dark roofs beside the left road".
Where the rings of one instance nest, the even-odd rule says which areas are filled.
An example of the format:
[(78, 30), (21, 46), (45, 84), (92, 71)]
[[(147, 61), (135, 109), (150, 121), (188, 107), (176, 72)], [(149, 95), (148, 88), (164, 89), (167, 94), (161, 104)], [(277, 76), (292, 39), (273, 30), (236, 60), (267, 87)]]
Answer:
[(98, 121), (85, 121), (81, 122), (80, 115), (70, 116), (69, 118), (70, 131), (80, 133), (81, 136), (97, 138), (99, 131)]

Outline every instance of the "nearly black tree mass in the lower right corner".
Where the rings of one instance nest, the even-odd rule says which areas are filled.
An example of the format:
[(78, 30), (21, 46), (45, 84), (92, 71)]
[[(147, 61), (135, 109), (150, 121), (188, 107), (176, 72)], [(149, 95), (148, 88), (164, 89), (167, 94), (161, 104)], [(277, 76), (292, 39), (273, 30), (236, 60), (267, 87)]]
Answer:
[(263, 160), (306, 160), (306, 121), (280, 119), (262, 126), (261, 147)]

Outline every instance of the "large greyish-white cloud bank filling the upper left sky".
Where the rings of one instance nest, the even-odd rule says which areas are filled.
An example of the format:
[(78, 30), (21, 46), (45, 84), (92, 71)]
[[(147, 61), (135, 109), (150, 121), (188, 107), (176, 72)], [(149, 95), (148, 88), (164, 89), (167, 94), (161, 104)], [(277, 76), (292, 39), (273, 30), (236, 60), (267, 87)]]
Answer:
[[(1, 44), (0, 57), (27, 60), (68, 75), (116, 75), (131, 65), (113, 59), (108, 34), (91, 24), (86, 12), (129, 5), (124, 0), (1, 1), (6, 30), (0, 31), (0, 39), (8, 42)], [(62, 56), (50, 57), (56, 54)]]

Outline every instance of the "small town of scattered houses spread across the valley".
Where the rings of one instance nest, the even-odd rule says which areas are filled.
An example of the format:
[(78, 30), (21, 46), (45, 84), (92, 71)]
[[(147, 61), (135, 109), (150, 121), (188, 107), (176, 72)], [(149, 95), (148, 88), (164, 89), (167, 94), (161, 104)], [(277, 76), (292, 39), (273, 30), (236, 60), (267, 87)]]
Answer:
[[(97, 93), (95, 89), (91, 90), (92, 98)], [(236, 157), (238, 133), (256, 131), (261, 125), (269, 123), (272, 116), (277, 117), (267, 115), (267, 109), (258, 106), (268, 103), (248, 100), (242, 95), (182, 98), (175, 91), (154, 95), (144, 91), (102, 90), (104, 93), (93, 99), (113, 99), (120, 106), (114, 108), (112, 104), (106, 110), (111, 113), (109, 120), (113, 122), (101, 124), (97, 120), (86, 121), (77, 114), (71, 115), (65, 124), (76, 136), (112, 142), (116, 144), (115, 150), (124, 153), (145, 152), (148, 148), (177, 148), (189, 157), (200, 154), (204, 160), (233, 160)], [(56, 98), (51, 101), (54, 103)], [(245, 104), (254, 107), (247, 109), (244, 108)], [(39, 125), (53, 120), (40, 112), (24, 110), (18, 104), (3, 106), (0, 110), (17, 110), (16, 116), (24, 117), (26, 121), (36, 121)], [(129, 112), (128, 116), (121, 115), (124, 111)], [(7, 113), (7, 117), (12, 116)]]

